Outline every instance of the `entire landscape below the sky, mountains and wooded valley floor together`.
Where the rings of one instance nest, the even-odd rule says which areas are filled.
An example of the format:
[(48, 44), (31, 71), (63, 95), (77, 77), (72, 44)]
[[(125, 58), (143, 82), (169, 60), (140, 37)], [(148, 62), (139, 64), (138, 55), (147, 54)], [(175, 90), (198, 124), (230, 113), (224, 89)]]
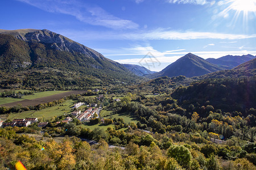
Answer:
[(188, 53), (156, 72), (1, 30), (0, 168), (256, 169), (255, 70), (250, 54)]

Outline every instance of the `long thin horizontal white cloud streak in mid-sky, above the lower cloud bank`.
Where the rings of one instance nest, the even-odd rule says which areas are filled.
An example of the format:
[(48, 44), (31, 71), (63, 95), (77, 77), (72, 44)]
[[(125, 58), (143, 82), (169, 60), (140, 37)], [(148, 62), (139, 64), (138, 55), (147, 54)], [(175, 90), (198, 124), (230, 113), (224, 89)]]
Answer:
[(220, 39), (220, 40), (239, 40), (256, 38), (254, 35), (215, 33), (215, 32), (194, 32), (194, 31), (176, 31), (163, 28), (151, 31), (73, 31), (60, 30), (69, 37), (86, 40), (196, 40), (196, 39)]

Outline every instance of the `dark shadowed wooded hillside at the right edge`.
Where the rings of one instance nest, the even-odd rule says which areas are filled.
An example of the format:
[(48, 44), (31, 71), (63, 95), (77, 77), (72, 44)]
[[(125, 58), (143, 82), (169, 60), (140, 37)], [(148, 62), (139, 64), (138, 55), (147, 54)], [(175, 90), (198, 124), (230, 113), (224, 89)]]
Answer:
[(202, 105), (212, 105), (214, 109), (221, 109), (222, 112), (237, 111), (246, 117), (249, 109), (256, 108), (255, 87), (255, 77), (204, 79), (191, 83), (190, 86), (177, 88), (171, 96), (177, 99), (183, 108), (188, 109), (190, 104), (197, 106), (197, 113), (203, 111), (203, 108), (200, 108)]

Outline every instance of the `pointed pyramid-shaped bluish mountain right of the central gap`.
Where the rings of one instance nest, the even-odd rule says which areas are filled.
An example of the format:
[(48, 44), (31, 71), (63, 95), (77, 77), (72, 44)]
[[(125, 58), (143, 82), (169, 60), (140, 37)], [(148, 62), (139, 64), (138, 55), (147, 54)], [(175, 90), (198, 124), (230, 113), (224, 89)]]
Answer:
[(199, 76), (208, 74), (214, 71), (222, 70), (205, 59), (198, 57), (192, 53), (188, 53), (184, 57), (177, 59), (174, 63), (168, 65), (162, 71), (149, 75), (150, 78), (156, 78), (159, 76), (179, 76), (184, 75), (186, 77)]

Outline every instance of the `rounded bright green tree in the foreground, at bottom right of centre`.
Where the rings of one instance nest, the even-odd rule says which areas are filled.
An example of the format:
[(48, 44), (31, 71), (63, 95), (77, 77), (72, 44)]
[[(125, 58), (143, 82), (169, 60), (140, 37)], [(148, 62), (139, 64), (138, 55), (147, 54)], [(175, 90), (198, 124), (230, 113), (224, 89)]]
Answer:
[(171, 146), (167, 153), (168, 157), (176, 159), (182, 167), (188, 168), (192, 159), (191, 152), (185, 146)]

